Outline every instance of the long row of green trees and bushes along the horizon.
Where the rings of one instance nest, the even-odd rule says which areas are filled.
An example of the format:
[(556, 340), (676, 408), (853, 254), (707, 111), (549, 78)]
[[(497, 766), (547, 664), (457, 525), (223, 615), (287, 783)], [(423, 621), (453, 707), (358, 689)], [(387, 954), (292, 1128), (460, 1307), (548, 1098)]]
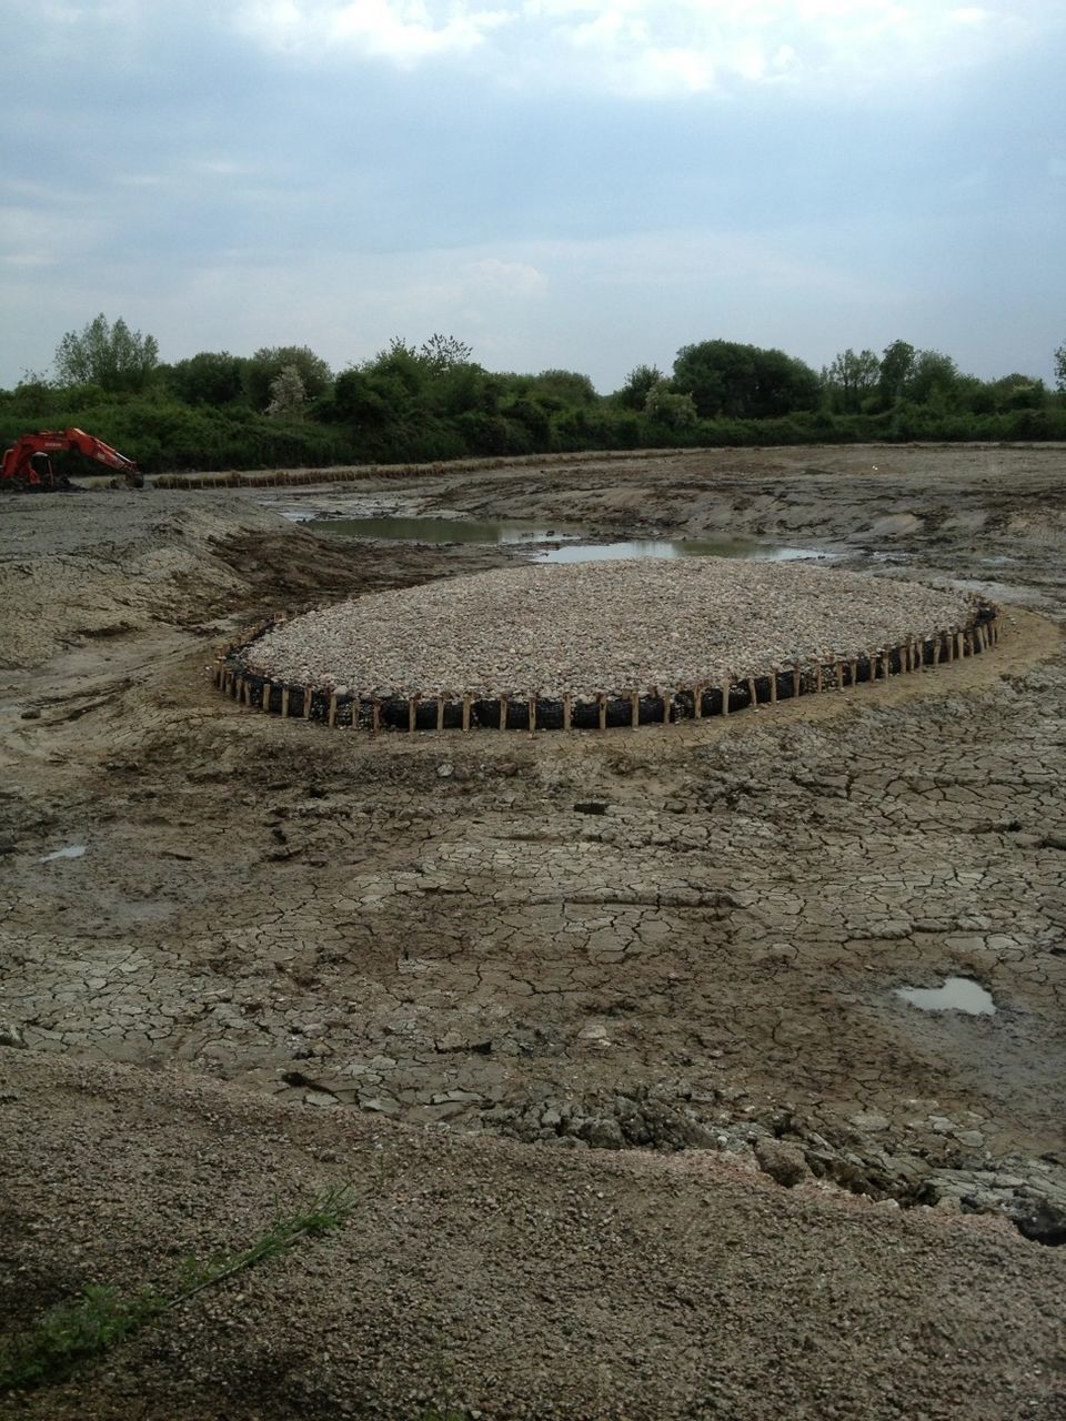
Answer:
[(581, 449), (877, 441), (1066, 439), (1066, 344), (1055, 388), (967, 375), (893, 341), (814, 371), (779, 350), (706, 340), (665, 372), (637, 365), (600, 395), (587, 375), (490, 372), (453, 335), (395, 338), (334, 372), (306, 345), (159, 360), (151, 335), (98, 315), (54, 372), (0, 391), (0, 438), (78, 425), (146, 472), (323, 468)]

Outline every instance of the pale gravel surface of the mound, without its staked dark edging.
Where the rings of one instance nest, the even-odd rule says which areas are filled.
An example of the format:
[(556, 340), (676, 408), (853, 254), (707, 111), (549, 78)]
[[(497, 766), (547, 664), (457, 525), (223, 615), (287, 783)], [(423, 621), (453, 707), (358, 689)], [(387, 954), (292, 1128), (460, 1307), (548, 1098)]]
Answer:
[(557, 696), (721, 685), (927, 637), (972, 598), (797, 563), (532, 564), (375, 593), (254, 642), (279, 681), (362, 696)]

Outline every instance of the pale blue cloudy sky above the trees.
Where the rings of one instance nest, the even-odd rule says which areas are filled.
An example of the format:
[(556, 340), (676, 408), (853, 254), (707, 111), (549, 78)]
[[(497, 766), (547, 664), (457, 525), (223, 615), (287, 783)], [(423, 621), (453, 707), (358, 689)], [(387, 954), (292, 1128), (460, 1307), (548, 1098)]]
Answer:
[(607, 392), (688, 342), (982, 377), (1066, 340), (1063, 0), (3, 0), (0, 387), (455, 334)]

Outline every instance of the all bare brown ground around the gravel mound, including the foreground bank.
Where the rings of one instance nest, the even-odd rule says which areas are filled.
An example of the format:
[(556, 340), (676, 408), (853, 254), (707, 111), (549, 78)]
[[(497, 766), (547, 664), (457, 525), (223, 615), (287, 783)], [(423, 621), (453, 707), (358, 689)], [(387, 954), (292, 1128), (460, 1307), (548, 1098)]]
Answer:
[[(335, 1241), (17, 1414), (1062, 1415), (1065, 465), (306, 500), (787, 537), (1005, 608), (988, 657), (591, 736), (370, 739), (210, 688), (263, 614), (517, 551), (321, 544), (232, 495), (6, 504), (9, 1309), (387, 1161)], [(894, 990), (949, 976), (995, 1015)]]

